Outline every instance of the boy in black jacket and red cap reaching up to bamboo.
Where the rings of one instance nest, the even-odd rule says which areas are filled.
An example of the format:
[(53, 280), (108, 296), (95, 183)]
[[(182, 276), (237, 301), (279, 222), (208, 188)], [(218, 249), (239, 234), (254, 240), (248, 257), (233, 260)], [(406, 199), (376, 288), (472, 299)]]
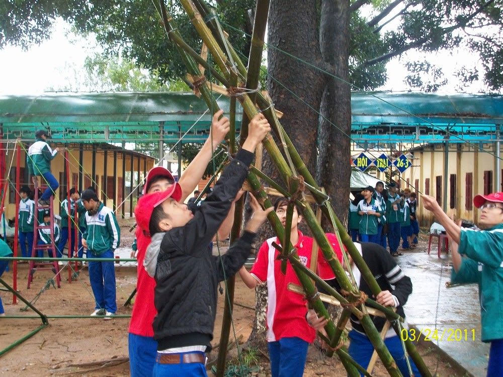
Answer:
[(270, 129), (262, 114), (250, 122), (242, 149), (195, 215), (179, 203), (178, 183), (138, 201), (138, 226), (151, 236), (143, 265), (156, 282), (153, 329), (158, 346), (153, 375), (206, 375), (204, 352), (213, 339), (218, 281), (244, 263), (255, 232), (272, 209), (263, 211), (252, 199), (254, 215), (221, 258), (212, 256), (209, 243), (247, 176), (256, 146)]

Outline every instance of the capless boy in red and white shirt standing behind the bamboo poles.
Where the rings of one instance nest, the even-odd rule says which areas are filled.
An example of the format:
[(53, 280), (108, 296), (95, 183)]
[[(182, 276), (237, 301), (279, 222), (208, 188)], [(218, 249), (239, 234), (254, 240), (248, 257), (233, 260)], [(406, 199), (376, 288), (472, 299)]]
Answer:
[[(274, 211), (283, 226), (286, 224), (287, 207), (288, 199), (284, 197), (278, 198), (274, 203)], [(298, 230), (301, 221), (302, 215), (297, 212), (297, 206), (294, 206), (290, 241), (295, 245), (302, 263), (310, 267), (313, 239)], [(336, 235), (327, 234), (327, 238), (337, 258), (342, 262), (342, 252)], [(264, 241), (251, 271), (248, 272), (242, 266), (239, 275), (250, 289), (259, 284), (267, 284), (266, 325), (272, 376), (301, 377), (308, 345), (314, 341), (316, 330), (325, 326), (327, 321), (323, 317), (318, 318), (314, 310), (307, 310), (307, 300), (302, 295), (288, 290), (288, 284), (300, 285), (300, 282), (290, 263), (287, 264), (286, 274), (281, 272), (279, 251), (273, 246), (273, 242), (281, 244), (277, 237)], [(336, 277), (319, 249), (316, 273), (324, 280)]]

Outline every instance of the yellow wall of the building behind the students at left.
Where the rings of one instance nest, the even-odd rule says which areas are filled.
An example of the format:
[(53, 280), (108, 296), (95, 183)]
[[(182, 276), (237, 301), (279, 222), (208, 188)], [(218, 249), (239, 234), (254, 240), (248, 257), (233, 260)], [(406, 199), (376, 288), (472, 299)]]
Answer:
[[(54, 147), (54, 145), (51, 145), (51, 147)], [(89, 147), (89, 144), (88, 144)], [(26, 147), (27, 148), (27, 147)], [(82, 190), (87, 189), (86, 186), (86, 179), (84, 178), (85, 175), (89, 175), (91, 177), (92, 172), (93, 172), (93, 151), (92, 150), (84, 150), (83, 155), (82, 155), (82, 160), (79, 161), (79, 149), (78, 145), (71, 145), (69, 151), (69, 168), (70, 168), (70, 173), (76, 173), (78, 174), (79, 172), (79, 164), (82, 165)], [(126, 151), (126, 153), (131, 153), (130, 151)], [(11, 166), (11, 161), (13, 157), (13, 151), (9, 151), (7, 158), (6, 158), (6, 164), (7, 164), (7, 169)], [(98, 181), (97, 182), (91, 182), (92, 185), (98, 187), (98, 197), (103, 201), (105, 206), (113, 208), (114, 201), (116, 202), (117, 205), (119, 205), (118, 202), (118, 194), (119, 194), (119, 178), (122, 177), (122, 163), (123, 163), (123, 154), (122, 151), (117, 151), (117, 170), (114, 171), (114, 153), (113, 150), (108, 150), (107, 151), (107, 175), (109, 177), (115, 177), (115, 182), (116, 182), (116, 191), (115, 195), (112, 198), (107, 198), (106, 193), (104, 192), (104, 182), (103, 182), (103, 174), (104, 174), (104, 168), (105, 168), (105, 163), (104, 163), (104, 157), (105, 153), (103, 149), (99, 149), (97, 147), (96, 150), (96, 163), (95, 163), (95, 174), (98, 175)], [(21, 163), (20, 167), (25, 167), (25, 152), (22, 149), (21, 150)], [(136, 172), (138, 168), (138, 155), (133, 156), (133, 171)], [(143, 156), (140, 155), (140, 179), (144, 177), (143, 174), (143, 168), (144, 168), (144, 163), (143, 161), (146, 160), (146, 171), (152, 168), (154, 164), (154, 159), (148, 156)], [(51, 162), (51, 172), (52, 174), (56, 177), (56, 179), (59, 181), (59, 174), (64, 171), (64, 164), (66, 160), (64, 159), (63, 155), (61, 153), (58, 153), (56, 157), (52, 160)], [(130, 163), (131, 163), (131, 157), (130, 155), (126, 155), (126, 174), (130, 170)], [(14, 155), (14, 161), (12, 163), (12, 167), (16, 167), (16, 156)], [(8, 174), (8, 172), (7, 172)], [(72, 182), (72, 175), (70, 175), (70, 186), (73, 186)], [(78, 179), (78, 176), (77, 176)], [(92, 177), (93, 180), (95, 180), (95, 177)], [(16, 184), (16, 182), (13, 182)], [(21, 176), (21, 185), (27, 183), (24, 182), (24, 177)], [(61, 184), (61, 182), (59, 182)], [(129, 179), (128, 179), (128, 184), (129, 184)], [(134, 183), (133, 183), (134, 184)], [(77, 187), (78, 187), (78, 182), (77, 182)], [(11, 189), (12, 190), (12, 189)], [(59, 208), (60, 208), (60, 188), (56, 190), (56, 199), (54, 200), (54, 213), (59, 215)], [(112, 191), (111, 189), (109, 189)], [(127, 189), (126, 189), (127, 190)], [(125, 198), (127, 196), (127, 192), (124, 193), (123, 197)], [(134, 195), (134, 199), (136, 199), (136, 195)], [(9, 203), (9, 196), (6, 198), (6, 216), (10, 219), (12, 219), (15, 215), (16, 211), (16, 205)], [(129, 215), (130, 209), (129, 209), (129, 198), (128, 200), (123, 204), (125, 206), (125, 212), (126, 216)], [(117, 213), (120, 213), (122, 208), (118, 208)]]

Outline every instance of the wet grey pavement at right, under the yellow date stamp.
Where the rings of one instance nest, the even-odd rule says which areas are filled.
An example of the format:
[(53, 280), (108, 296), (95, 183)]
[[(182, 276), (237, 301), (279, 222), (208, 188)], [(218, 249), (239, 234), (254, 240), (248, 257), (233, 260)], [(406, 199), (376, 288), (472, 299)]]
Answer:
[(436, 252), (428, 255), (419, 247), (404, 251), (397, 262), (412, 280), (413, 291), (404, 309), (416, 335), (421, 332), (421, 339), (429, 335), (432, 343), (469, 373), (485, 376), (489, 345), (480, 340), (477, 285), (446, 287), (451, 276), (446, 253), (439, 259)]

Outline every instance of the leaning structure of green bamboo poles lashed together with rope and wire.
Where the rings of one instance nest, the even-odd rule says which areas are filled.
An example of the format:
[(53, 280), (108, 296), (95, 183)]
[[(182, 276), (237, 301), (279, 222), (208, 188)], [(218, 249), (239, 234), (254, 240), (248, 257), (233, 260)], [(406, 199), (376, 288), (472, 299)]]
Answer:
[[(230, 97), (229, 113), (231, 131), (229, 133), (228, 144), (231, 153), (235, 152), (237, 149), (236, 142), (234, 140), (236, 101), (241, 104), (243, 109), (241, 139), (247, 133), (248, 119), (253, 118), (260, 110), (269, 121), (269, 124), (271, 125), (276, 137), (281, 141), (283, 151), (278, 148), (271, 135), (268, 135), (264, 139), (263, 147), (266, 149), (267, 153), (269, 153), (273, 163), (278, 168), (280, 176), (285, 183), (287, 190), (283, 189), (283, 187), (278, 185), (265, 174), (261, 173), (257, 168), (251, 169), (247, 180), (249, 185), (251, 186), (251, 189), (253, 190), (253, 193), (265, 208), (271, 207), (272, 204), (261, 185), (260, 179), (267, 182), (272, 187), (272, 189), (277, 190), (282, 195), (291, 199), (291, 204), (289, 205), (289, 208), (287, 210), (287, 227), (288, 224), (291, 223), (293, 206), (295, 203), (299, 211), (302, 213), (304, 219), (306, 220), (307, 225), (311, 229), (314, 235), (314, 239), (322, 250), (328, 264), (336, 274), (339, 285), (344, 291), (348, 293), (346, 296), (341, 295), (336, 290), (328, 286), (314, 272), (312, 272), (309, 268), (305, 267), (300, 262), (295, 248), (290, 243), (289, 232), (284, 232), (284, 228), (281, 225), (278, 217), (276, 216), (276, 213), (271, 212), (268, 215), (268, 220), (270, 221), (278, 238), (282, 240), (281, 244), (283, 245), (283, 247), (280, 248), (283, 258), (282, 268), (283, 270), (284, 268), (286, 268), (287, 261), (291, 263), (296, 275), (299, 278), (304, 294), (306, 295), (306, 297), (310, 298), (310, 303), (313, 309), (318, 313), (318, 315), (323, 316), (327, 319), (329, 318), (328, 313), (322, 301), (320, 300), (317, 289), (313, 284), (313, 281), (316, 282), (319, 286), (323, 287), (330, 296), (337, 299), (344, 306), (344, 310), (342, 311), (342, 315), (337, 325), (332, 321), (329, 321), (325, 326), (325, 331), (328, 335), (329, 345), (332, 348), (337, 349), (335, 352), (341, 359), (344, 367), (348, 372), (348, 375), (356, 377), (360, 375), (360, 372), (366, 375), (370, 375), (364, 368), (358, 365), (349, 356), (344, 345), (340, 344), (341, 335), (344, 331), (345, 325), (350, 316), (354, 314), (359, 318), (367, 336), (369, 337), (375, 348), (378, 357), (381, 359), (389, 374), (393, 377), (401, 376), (402, 374), (398, 370), (395, 361), (386, 348), (384, 341), (381, 338), (381, 334), (376, 330), (369, 316), (369, 310), (367, 310), (366, 305), (383, 313), (398, 336), (400, 336), (401, 329), (399, 322), (403, 321), (403, 319), (390, 308), (383, 307), (369, 298), (363, 298), (355, 282), (346, 275), (343, 265), (335, 257), (331, 245), (328, 242), (323, 230), (321, 229), (315, 213), (306, 200), (306, 195), (304, 194), (305, 189), (307, 189), (314, 198), (322, 215), (331, 222), (337, 234), (341, 250), (343, 250), (345, 263), (349, 265), (348, 257), (344, 252), (343, 244), (346, 246), (348, 253), (351, 255), (356, 266), (360, 269), (362, 278), (365, 279), (368, 286), (371, 288), (372, 294), (374, 296), (377, 296), (377, 294), (381, 291), (370, 269), (365, 264), (363, 257), (360, 255), (350, 236), (347, 234), (344, 225), (340, 222), (340, 220), (334, 213), (333, 208), (330, 204), (329, 197), (327, 197), (322, 192), (322, 190), (320, 190), (311, 173), (307, 170), (305, 164), (303, 163), (299, 153), (295, 150), (290, 138), (279, 122), (278, 114), (274, 109), (274, 104), (272, 104), (267, 95), (264, 95), (258, 90), (259, 69), (262, 59), (264, 35), (269, 13), (269, 0), (257, 1), (254, 30), (251, 39), (251, 48), (247, 68), (244, 66), (238, 54), (228, 42), (227, 37), (218, 21), (218, 18), (216, 17), (214, 12), (205, 4), (204, 0), (179, 0), (179, 3), (189, 16), (189, 19), (191, 20), (193, 26), (200, 35), (204, 46), (210, 53), (213, 62), (216, 64), (216, 67), (213, 66), (213, 64), (208, 63), (205, 58), (194, 51), (183, 40), (180, 33), (171, 24), (173, 18), (167, 12), (164, 0), (152, 1), (161, 18), (162, 26), (164, 27), (167, 37), (171, 40), (171, 42), (175, 44), (182, 60), (187, 66), (188, 77), (190, 81), (192, 81), (195, 90), (201, 93), (201, 96), (206, 102), (208, 108), (213, 113), (219, 110), (212, 93), (213, 89), (216, 89), (215, 91), (220, 93), (223, 92)], [(158, 1), (158, 3), (156, 3), (156, 1)], [(207, 80), (207, 76), (205, 76), (201, 72), (201, 69), (205, 70), (207, 76), (211, 76), (213, 79), (220, 82), (224, 86), (224, 88), (222, 86), (216, 85), (215, 83), (209, 82)], [(236, 215), (231, 233), (231, 241), (236, 239), (239, 235), (242, 221), (242, 205), (243, 204), (241, 199), (241, 201), (236, 205)], [(225, 369), (225, 358), (229, 338), (230, 323), (232, 319), (231, 312), (233, 294), (234, 278), (231, 277), (227, 282), (227, 299), (225, 301), (224, 319), (222, 324), (220, 348), (217, 360), (217, 376), (223, 376)], [(410, 342), (410, 340), (407, 340), (404, 343), (407, 353), (410, 355), (417, 368), (420, 370), (421, 374), (423, 376), (431, 376), (430, 371), (426, 367), (424, 361), (417, 353), (414, 345)], [(332, 352), (329, 352), (328, 355), (331, 356), (331, 353)]]

